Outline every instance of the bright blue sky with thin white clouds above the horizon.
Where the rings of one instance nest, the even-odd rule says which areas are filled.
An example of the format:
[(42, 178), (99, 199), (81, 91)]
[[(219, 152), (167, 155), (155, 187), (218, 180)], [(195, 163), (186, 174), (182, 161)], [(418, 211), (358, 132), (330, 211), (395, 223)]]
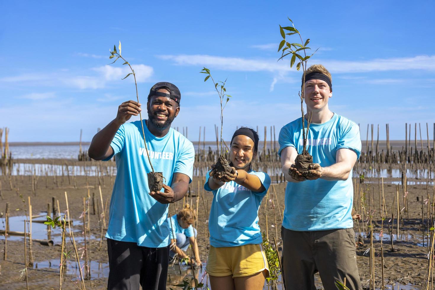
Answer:
[(10, 127), (10, 141), (75, 141), (80, 129), (91, 140), (136, 97), (133, 78), (121, 80), (127, 67), (107, 65), (120, 40), (141, 103), (158, 81), (180, 88), (173, 127), (188, 127), (189, 139), (205, 126), (214, 140), (220, 122), (218, 95), (198, 73), (204, 66), (228, 77), (224, 139), (241, 125), (261, 135), (275, 125), (278, 137), (300, 116), (301, 73), (290, 59), (277, 62), (278, 25), (290, 17), (320, 47), (309, 64), (332, 73), (330, 109), (360, 123), (363, 139), (367, 123), (380, 124), (380, 139), (385, 123), (391, 140), (404, 139), (405, 122), (428, 122), (432, 138), (434, 2), (354, 2), (310, 1), (302, 12), (302, 1), (3, 1), (0, 126)]

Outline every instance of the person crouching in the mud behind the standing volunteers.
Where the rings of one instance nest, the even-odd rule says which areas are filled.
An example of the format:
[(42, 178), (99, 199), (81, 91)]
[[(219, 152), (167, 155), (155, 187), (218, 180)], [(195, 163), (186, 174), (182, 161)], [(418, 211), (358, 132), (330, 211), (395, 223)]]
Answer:
[[(196, 213), (187, 203), (182, 210), (172, 217), (168, 217), (171, 239), (171, 251), (169, 252), (170, 262), (174, 261), (176, 255), (179, 259), (188, 259), (195, 267), (202, 265), (199, 257), (198, 243), (196, 241), (197, 230), (192, 226), (196, 220)], [(186, 250), (192, 246), (194, 258), (186, 254)]]

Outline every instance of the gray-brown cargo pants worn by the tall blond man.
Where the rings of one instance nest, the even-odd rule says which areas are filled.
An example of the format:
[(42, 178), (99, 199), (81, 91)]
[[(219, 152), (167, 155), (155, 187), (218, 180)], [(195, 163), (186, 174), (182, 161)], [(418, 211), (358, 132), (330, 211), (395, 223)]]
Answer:
[(337, 290), (335, 281), (361, 290), (353, 229), (299, 232), (281, 227), (282, 268), (286, 290), (315, 290), (319, 272), (325, 290)]

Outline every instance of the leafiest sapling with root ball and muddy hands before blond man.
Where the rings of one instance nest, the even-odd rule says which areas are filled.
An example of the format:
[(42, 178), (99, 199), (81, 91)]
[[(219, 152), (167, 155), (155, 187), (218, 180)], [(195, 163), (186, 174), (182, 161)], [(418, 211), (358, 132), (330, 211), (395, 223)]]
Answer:
[[(281, 33), (281, 37), (283, 40), (281, 40), (281, 43), (279, 44), (278, 51), (281, 51), (281, 57), (279, 60), (283, 59), (284, 57), (291, 54), (291, 60), (290, 60), (290, 67), (293, 67), (294, 63), (296, 62), (296, 59), (298, 59), (298, 63), (296, 64), (296, 69), (300, 70), (302, 67), (302, 88), (301, 92), (299, 92), (299, 97), (301, 98), (301, 113), (302, 113), (302, 137), (303, 137), (303, 150), (302, 153), (299, 153), (296, 159), (294, 160), (294, 164), (292, 164), (291, 168), (289, 169), (289, 174), (291, 177), (293, 177), (295, 180), (312, 180), (317, 179), (321, 175), (320, 171), (320, 165), (318, 163), (313, 163), (313, 157), (308, 153), (308, 132), (310, 130), (310, 124), (311, 124), (311, 117), (312, 112), (308, 112), (307, 114), (307, 126), (305, 130), (305, 112), (304, 112), (304, 83), (305, 83), (305, 72), (307, 70), (307, 63), (308, 59), (313, 56), (307, 55), (307, 50), (311, 50), (310, 47), (307, 47), (308, 43), (310, 42), (310, 39), (308, 38), (305, 40), (305, 42), (302, 40), (301, 33), (294, 27), (293, 21), (290, 20), (292, 26), (288, 27), (281, 27), (279, 26), (279, 30)], [(288, 33), (285, 33), (285, 31), (288, 31)], [(286, 36), (291, 36), (293, 34), (298, 34), (299, 39), (301, 40), (301, 43), (289, 43), (286, 40)], [(316, 50), (317, 51), (317, 50)], [(303, 56), (301, 55), (303, 53)]]

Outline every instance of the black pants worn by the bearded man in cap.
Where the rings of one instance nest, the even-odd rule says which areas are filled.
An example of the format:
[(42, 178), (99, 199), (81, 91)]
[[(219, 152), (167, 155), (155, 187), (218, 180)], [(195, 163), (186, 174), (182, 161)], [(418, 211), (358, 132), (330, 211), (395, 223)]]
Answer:
[(166, 290), (169, 246), (148, 248), (107, 239), (107, 290)]

